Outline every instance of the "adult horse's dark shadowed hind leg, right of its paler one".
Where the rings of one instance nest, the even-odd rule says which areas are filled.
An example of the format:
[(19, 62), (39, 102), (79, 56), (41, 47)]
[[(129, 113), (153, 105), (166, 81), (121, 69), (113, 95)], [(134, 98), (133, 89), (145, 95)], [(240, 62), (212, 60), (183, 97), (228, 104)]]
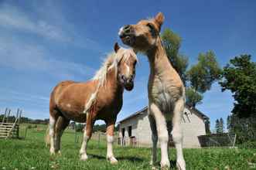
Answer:
[(63, 131), (70, 124), (70, 120), (67, 118), (60, 116), (56, 121), (56, 148), (55, 150), (60, 153), (60, 138), (63, 134)]

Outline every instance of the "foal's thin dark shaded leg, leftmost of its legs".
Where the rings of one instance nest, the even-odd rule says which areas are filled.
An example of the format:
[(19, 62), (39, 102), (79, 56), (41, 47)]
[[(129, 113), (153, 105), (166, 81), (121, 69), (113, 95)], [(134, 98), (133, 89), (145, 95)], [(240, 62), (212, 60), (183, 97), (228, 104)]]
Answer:
[(156, 151), (157, 151), (158, 136), (157, 136), (156, 125), (155, 125), (155, 117), (152, 116), (152, 114), (150, 113), (150, 110), (148, 110), (148, 111), (149, 111), (148, 120), (149, 120), (150, 128), (152, 131), (152, 136), (151, 136), (151, 138), (152, 138), (152, 158), (151, 158), (150, 164), (155, 165), (155, 162), (157, 160)]

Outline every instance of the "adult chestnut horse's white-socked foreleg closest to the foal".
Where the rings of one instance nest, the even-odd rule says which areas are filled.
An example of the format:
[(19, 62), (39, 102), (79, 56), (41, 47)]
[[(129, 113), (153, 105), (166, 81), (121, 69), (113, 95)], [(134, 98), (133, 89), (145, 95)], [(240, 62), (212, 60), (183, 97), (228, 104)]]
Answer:
[(114, 121), (107, 122), (107, 142), (108, 142), (107, 160), (111, 162), (111, 164), (118, 163), (118, 160), (114, 158), (114, 154), (113, 154), (114, 123), (115, 123)]

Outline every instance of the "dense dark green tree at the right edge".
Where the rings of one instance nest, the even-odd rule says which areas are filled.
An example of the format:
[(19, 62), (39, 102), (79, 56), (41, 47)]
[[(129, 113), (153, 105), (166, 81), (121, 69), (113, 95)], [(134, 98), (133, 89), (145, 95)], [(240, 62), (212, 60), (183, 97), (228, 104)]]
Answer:
[(256, 114), (256, 63), (250, 55), (236, 56), (224, 67), (220, 86), (230, 90), (235, 100), (232, 113), (238, 117)]

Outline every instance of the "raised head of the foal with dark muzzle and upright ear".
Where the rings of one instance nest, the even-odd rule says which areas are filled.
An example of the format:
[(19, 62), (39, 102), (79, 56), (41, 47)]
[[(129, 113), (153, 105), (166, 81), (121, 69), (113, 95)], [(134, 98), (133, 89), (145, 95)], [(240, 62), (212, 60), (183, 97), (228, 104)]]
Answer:
[(164, 15), (159, 12), (153, 19), (141, 20), (135, 25), (121, 27), (118, 35), (126, 45), (147, 52), (148, 49), (155, 47), (163, 21)]

